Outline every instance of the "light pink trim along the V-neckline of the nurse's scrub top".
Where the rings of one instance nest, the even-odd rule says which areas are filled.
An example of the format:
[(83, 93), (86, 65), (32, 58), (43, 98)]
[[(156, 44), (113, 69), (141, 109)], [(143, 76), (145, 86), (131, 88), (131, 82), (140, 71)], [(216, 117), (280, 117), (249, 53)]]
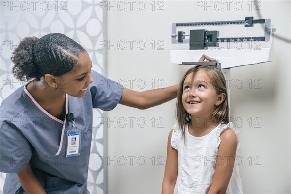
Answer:
[[(50, 113), (48, 113), (45, 109), (43, 109), (38, 103), (37, 101), (32, 97), (32, 95), (28, 92), (28, 90), (26, 89), (26, 85), (23, 87), (24, 92), (27, 94), (27, 96), (32, 100), (32, 102), (43, 112), (45, 113), (47, 116), (49, 116), (50, 118), (52, 118), (53, 120), (63, 124), (63, 129), (62, 129), (62, 134), (61, 134), (61, 140), (60, 140), (60, 146), (58, 149), (58, 152), (56, 153), (56, 156), (60, 154), (61, 149), (62, 149), (62, 145), (63, 145), (63, 138), (64, 138), (64, 132), (65, 132), (65, 123), (66, 123), (66, 118), (64, 121), (54, 117), (53, 115), (51, 115)], [(65, 94), (65, 114), (68, 113), (68, 95)]]

